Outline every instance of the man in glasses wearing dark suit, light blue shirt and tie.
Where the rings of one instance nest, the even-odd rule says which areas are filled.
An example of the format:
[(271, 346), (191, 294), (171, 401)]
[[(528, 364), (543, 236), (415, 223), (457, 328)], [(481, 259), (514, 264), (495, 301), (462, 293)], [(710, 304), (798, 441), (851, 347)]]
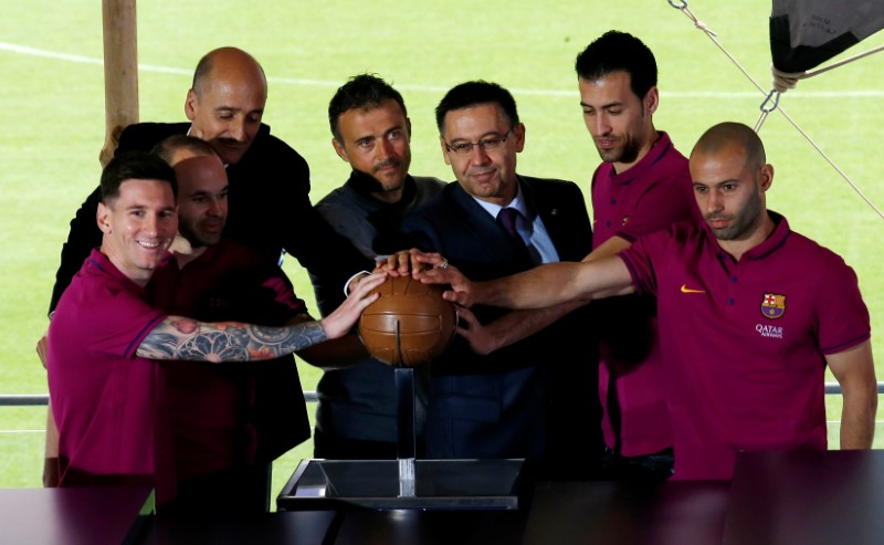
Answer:
[[(580, 188), (516, 174), (525, 125), (508, 91), (457, 85), (436, 107), (436, 123), (457, 184), (407, 218), (420, 250), (482, 280), (589, 253)], [(427, 455), (527, 458), (540, 462), (545, 478), (593, 476), (601, 453), (597, 360), (575, 316), (583, 311), (571, 312), (578, 306), (464, 311), (461, 338), (431, 367)]]

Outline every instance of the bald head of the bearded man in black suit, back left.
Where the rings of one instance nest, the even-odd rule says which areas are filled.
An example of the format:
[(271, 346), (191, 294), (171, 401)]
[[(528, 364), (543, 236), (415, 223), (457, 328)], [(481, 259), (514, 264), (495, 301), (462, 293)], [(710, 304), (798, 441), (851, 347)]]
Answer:
[(257, 135), (266, 102), (267, 80), (252, 55), (236, 48), (210, 51), (197, 65), (185, 102), (190, 135), (234, 165)]

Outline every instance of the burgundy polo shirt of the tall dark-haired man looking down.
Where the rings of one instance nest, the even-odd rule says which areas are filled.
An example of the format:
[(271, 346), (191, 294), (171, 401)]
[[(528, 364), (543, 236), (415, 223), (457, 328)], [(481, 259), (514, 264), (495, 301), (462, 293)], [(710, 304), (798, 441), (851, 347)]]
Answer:
[[(666, 133), (650, 151), (624, 172), (602, 163), (592, 177), (592, 248), (612, 237), (630, 242), (698, 218), (687, 159)], [(596, 304), (601, 339), (599, 397), (604, 416), (602, 431), (609, 448), (627, 457), (650, 454), (672, 446), (670, 419), (661, 389), (661, 358), (655, 304), (650, 297), (629, 295)], [(619, 347), (635, 349), (631, 361)], [(609, 408), (611, 375), (615, 377), (619, 444)]]

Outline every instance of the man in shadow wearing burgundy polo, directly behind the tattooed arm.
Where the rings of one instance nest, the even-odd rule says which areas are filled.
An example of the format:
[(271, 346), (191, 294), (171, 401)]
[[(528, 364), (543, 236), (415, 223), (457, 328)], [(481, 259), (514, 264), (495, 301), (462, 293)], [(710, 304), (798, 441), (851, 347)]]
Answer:
[[(204, 322), (311, 319), (277, 265), (262, 264), (257, 252), (222, 235), (230, 186), (212, 146), (173, 135), (154, 153), (175, 168), (178, 235), (169, 248), (175, 259), (151, 279), (152, 304)], [(311, 434), (294, 357), (262, 366), (162, 367), (177, 485), (166, 509), (266, 511), (271, 462)], [(212, 500), (221, 496), (220, 504)]]

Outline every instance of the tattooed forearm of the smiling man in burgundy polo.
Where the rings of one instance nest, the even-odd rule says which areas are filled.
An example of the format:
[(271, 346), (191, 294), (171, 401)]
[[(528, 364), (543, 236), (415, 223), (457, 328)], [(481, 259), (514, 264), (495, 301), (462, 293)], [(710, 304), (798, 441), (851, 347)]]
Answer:
[(319, 322), (284, 327), (204, 323), (169, 316), (141, 342), (138, 356), (194, 361), (252, 361), (272, 359), (326, 340)]

